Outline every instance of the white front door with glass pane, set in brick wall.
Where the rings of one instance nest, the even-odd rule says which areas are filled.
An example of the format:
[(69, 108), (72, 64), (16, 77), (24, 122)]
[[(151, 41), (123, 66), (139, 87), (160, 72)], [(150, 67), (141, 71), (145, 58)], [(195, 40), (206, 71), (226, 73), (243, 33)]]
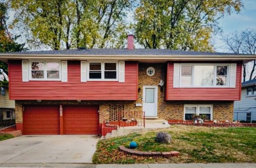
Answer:
[(158, 86), (143, 86), (142, 109), (146, 117), (158, 116)]

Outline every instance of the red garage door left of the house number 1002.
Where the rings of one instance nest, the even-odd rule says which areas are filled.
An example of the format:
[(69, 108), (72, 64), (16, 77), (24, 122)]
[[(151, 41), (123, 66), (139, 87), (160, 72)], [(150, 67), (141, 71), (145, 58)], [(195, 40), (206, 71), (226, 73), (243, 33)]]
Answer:
[(26, 106), (24, 111), (25, 135), (60, 134), (58, 106)]

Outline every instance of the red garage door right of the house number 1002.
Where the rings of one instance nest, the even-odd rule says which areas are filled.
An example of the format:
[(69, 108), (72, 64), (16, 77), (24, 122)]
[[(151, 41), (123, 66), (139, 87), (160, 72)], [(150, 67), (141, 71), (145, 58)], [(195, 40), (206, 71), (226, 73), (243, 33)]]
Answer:
[(98, 107), (65, 106), (64, 134), (98, 134)]

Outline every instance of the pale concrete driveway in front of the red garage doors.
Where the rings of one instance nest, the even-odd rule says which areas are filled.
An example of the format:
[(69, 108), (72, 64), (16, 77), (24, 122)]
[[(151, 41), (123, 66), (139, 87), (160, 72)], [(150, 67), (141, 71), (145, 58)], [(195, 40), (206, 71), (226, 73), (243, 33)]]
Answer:
[(95, 135), (33, 135), (0, 141), (0, 163), (92, 163)]

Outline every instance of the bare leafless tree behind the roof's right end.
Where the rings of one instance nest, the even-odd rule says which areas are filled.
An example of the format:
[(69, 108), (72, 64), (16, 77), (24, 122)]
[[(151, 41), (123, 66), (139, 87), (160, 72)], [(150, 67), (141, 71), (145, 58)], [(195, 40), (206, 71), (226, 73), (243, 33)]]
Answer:
[[(256, 54), (256, 29), (245, 29), (222, 35), (222, 41), (234, 54)], [(243, 64), (243, 82), (256, 78), (256, 60)]]

